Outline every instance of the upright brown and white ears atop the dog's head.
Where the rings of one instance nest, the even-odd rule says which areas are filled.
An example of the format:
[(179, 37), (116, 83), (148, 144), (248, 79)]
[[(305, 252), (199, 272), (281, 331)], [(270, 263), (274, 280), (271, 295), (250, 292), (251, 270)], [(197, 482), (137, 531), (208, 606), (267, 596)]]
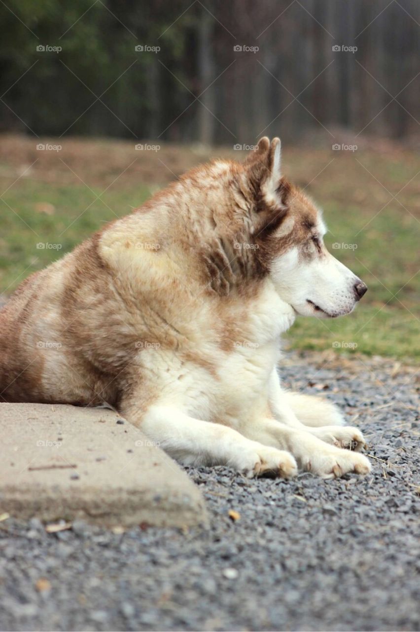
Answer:
[(278, 196), (277, 189), (281, 181), (281, 142), (279, 138), (269, 139), (264, 136), (252, 152), (245, 164), (249, 165), (248, 177), (253, 188), (258, 190), (271, 204)]

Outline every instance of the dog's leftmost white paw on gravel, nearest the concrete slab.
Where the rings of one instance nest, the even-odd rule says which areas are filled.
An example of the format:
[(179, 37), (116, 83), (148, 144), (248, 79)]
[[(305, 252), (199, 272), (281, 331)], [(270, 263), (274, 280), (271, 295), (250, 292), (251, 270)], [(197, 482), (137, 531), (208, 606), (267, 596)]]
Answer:
[(242, 455), (241, 470), (248, 478), (291, 478), (298, 473), (298, 466), (293, 456), (275, 447), (257, 446), (255, 451)]

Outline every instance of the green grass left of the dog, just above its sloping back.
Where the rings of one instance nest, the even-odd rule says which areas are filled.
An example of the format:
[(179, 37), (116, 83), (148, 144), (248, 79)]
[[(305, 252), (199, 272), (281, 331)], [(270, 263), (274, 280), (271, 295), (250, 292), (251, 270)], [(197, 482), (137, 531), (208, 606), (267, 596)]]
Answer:
[[(0, 200), (3, 292), (10, 294), (28, 274), (62, 257), (103, 224), (128, 214), (151, 195), (151, 189), (144, 184), (107, 191), (96, 201), (103, 186), (93, 191), (84, 185), (54, 186), (24, 180), (4, 195), (4, 202)], [(37, 204), (45, 203), (54, 206), (54, 214), (36, 210)], [(38, 248), (40, 243), (52, 244), (54, 248)]]

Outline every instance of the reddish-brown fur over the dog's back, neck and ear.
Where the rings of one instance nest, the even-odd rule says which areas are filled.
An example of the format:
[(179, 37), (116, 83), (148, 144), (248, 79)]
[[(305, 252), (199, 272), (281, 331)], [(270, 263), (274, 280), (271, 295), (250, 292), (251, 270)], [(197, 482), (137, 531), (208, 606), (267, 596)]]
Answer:
[[(0, 401), (94, 405), (105, 400), (117, 406), (122, 392), (143, 379), (139, 341), (179, 350), (182, 360), (214, 376), (212, 358), (197, 353), (186, 339), (175, 298), (187, 301), (193, 315), (207, 297), (218, 314), (214, 339), (231, 351), (232, 341), (246, 333), (248, 303), (258, 296), (272, 258), (306, 240), (315, 219), (315, 209), (286, 179), (278, 183), (277, 202), (265, 200), (262, 190), (273, 160), (267, 143), (263, 139), (245, 164), (216, 161), (192, 169), (131, 216), (111, 222), (26, 279), (0, 312)], [(276, 236), (290, 214), (296, 218), (293, 230)], [(133, 226), (138, 239), (150, 231), (158, 246), (138, 258), (139, 265), (144, 260), (158, 271), (163, 266), (163, 285), (153, 292), (147, 265), (144, 283), (133, 281), (114, 247), (121, 240), (135, 276), (130, 261), (139, 253)], [(236, 248), (238, 243), (252, 247)], [(178, 262), (190, 289), (173, 271)], [(37, 340), (49, 335), (59, 340), (59, 351), (37, 348)]]

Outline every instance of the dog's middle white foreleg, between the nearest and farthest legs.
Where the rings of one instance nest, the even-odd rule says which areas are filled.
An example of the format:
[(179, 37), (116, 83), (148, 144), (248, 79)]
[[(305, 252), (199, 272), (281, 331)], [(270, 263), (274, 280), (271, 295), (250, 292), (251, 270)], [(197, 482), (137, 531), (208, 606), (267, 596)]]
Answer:
[(337, 478), (349, 472), (370, 472), (370, 463), (362, 454), (328, 445), (307, 430), (288, 427), (276, 419), (247, 424), (244, 434), (264, 445), (289, 451), (302, 470), (322, 478)]

